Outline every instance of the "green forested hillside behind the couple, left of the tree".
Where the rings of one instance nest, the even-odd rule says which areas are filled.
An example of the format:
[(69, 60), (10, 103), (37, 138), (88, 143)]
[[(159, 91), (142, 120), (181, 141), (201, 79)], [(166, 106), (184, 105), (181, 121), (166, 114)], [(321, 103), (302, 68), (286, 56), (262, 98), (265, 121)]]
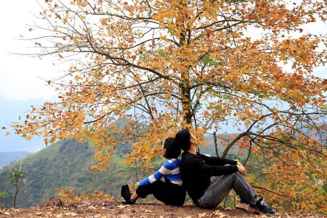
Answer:
[[(74, 187), (75, 194), (90, 193), (92, 189), (97, 189), (111, 195), (120, 195), (123, 184), (133, 185), (136, 180), (146, 176), (139, 170), (123, 171), (126, 165), (118, 155), (114, 157), (115, 163), (111, 165), (109, 172), (91, 172), (90, 167), (95, 164), (94, 153), (88, 143), (82, 144), (75, 139), (68, 139), (25, 158), (22, 169), (25, 170), (26, 178), (17, 197), (17, 206), (38, 205), (42, 199), (57, 196), (56, 190), (59, 187), (62, 187), (62, 190)], [(9, 184), (6, 177), (9, 172), (19, 168), (20, 163), (16, 162), (0, 171), (0, 184), (10, 188), (12, 192), (14, 186)], [(0, 192), (5, 192), (1, 186)], [(12, 207), (8, 195), (4, 202), (7, 207)]]

